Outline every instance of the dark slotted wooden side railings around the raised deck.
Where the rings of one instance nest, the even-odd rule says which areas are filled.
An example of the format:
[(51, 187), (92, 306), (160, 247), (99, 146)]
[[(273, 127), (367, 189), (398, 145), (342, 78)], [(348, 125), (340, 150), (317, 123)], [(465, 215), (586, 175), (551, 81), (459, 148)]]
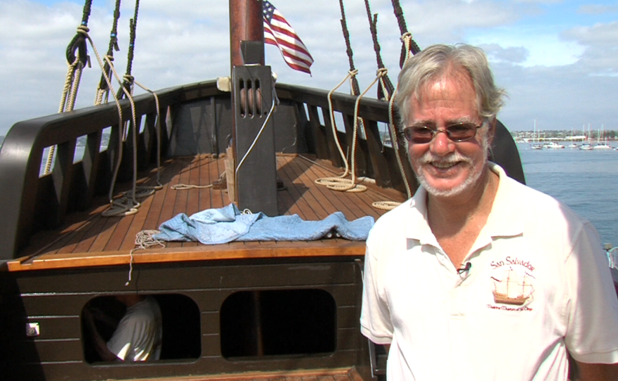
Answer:
[[(163, 155), (169, 152), (174, 131), (183, 128), (169, 123), (174, 120), (175, 112), (195, 101), (230, 101), (230, 94), (219, 91), (215, 81), (178, 86), (156, 93), (162, 115)], [(331, 128), (327, 91), (277, 84), (277, 96), (282, 104), (292, 105), (294, 112), (289, 112), (289, 107), (277, 110), (275, 120), (279, 124), (291, 122), (300, 127), (295, 131), (289, 129), (286, 134), (302, 135), (306, 153), (313, 153), (342, 167)], [(343, 119), (345, 131), (338, 131), (337, 137), (344, 153), (351, 152), (356, 99), (342, 93), (335, 93), (332, 97), (334, 110), (340, 115), (336, 118)], [(131, 105), (126, 99), (121, 101), (123, 120), (129, 122), (129, 131), (121, 147), (119, 181), (131, 178), (133, 150), (137, 151), (139, 158), (138, 169), (146, 169), (156, 162), (157, 157), (155, 98), (151, 94), (143, 94), (136, 96), (134, 104), (139, 131), (136, 147), (131, 138), (134, 128)], [(388, 103), (363, 98), (357, 115), (364, 124), (354, 157), (357, 175), (372, 177), (384, 188), (405, 191), (394, 150), (383, 144), (379, 132), (379, 123), (388, 123)], [(216, 118), (213, 120), (216, 122)], [(228, 125), (215, 128), (225, 129), (218, 132), (219, 136), (228, 136), (231, 131)], [(100, 148), (104, 130), (110, 131), (107, 149)], [(115, 103), (40, 117), (13, 126), (0, 151), (0, 259), (18, 256), (32, 233), (60, 226), (67, 214), (90, 207), (95, 195), (109, 191), (120, 154), (118, 136), (122, 134), (121, 130)], [(77, 141), (83, 141), (83, 136), (86, 136), (84, 157), (74, 160)], [(53, 168), (49, 174), (41, 175), (44, 152), (51, 146), (55, 146)], [(404, 160), (404, 165), (408, 178), (414, 179), (407, 160)]]

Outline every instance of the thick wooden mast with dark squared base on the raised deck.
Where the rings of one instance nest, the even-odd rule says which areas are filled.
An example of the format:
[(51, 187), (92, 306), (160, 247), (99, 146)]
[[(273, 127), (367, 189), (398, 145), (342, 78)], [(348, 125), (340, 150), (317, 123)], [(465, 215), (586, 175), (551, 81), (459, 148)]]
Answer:
[(233, 176), (234, 186), (228, 187), (228, 195), (241, 210), (273, 217), (279, 214), (270, 120), (275, 84), (270, 66), (264, 65), (262, 0), (230, 0), (230, 65), (233, 169), (227, 175)]

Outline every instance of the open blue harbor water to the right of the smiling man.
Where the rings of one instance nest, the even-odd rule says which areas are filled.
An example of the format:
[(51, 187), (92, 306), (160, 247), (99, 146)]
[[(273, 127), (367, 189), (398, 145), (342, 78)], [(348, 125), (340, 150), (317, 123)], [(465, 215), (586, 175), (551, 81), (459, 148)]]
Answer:
[(528, 186), (591, 221), (602, 243), (618, 245), (617, 150), (531, 150), (529, 143), (518, 143), (518, 148)]

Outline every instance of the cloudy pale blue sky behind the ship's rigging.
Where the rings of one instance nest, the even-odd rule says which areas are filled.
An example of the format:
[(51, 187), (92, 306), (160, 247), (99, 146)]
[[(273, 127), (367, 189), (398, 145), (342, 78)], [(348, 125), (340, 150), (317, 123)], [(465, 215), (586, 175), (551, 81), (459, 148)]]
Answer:
[[(312, 75), (289, 68), (275, 46), (266, 64), (278, 82), (330, 90), (348, 72), (336, 0), (272, 0), (308, 47)], [(115, 1), (93, 0), (89, 35), (107, 51)], [(431, 44), (480, 46), (497, 84), (508, 93), (499, 119), (511, 131), (618, 130), (618, 1), (400, 0), (421, 49)], [(361, 91), (376, 77), (376, 55), (363, 0), (344, 0)], [(388, 76), (399, 72), (400, 30), (391, 0), (371, 0)], [(20, 120), (58, 112), (67, 75), (65, 50), (84, 1), (0, 0), (0, 135)], [(129, 19), (124, 1), (114, 65), (126, 70)], [(141, 0), (132, 74), (149, 89), (230, 75), (229, 6), (223, 0)], [(100, 68), (84, 70), (76, 108), (93, 104)], [(118, 84), (114, 84), (114, 89)], [(348, 92), (347, 85), (338, 91)], [(136, 89), (136, 93), (140, 93)], [(376, 89), (368, 92), (375, 96)]]

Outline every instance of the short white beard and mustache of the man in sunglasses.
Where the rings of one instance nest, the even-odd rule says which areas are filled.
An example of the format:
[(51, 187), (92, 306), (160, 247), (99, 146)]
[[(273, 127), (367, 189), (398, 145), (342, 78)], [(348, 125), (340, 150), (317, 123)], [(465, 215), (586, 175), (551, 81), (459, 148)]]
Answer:
[(422, 157), (416, 160), (416, 162), (412, 163), (412, 168), (414, 169), (414, 174), (416, 174), (416, 179), (419, 180), (419, 183), (421, 183), (421, 186), (425, 188), (427, 193), (435, 197), (452, 197), (463, 193), (463, 191), (468, 189), (471, 185), (477, 183), (477, 181), (482, 176), (485, 168), (487, 167), (487, 154), (489, 153), (489, 143), (486, 136), (481, 139), (480, 144), (483, 150), (483, 164), (481, 167), (478, 168), (478, 170), (472, 172), (470, 176), (468, 176), (468, 178), (463, 181), (463, 183), (459, 184), (459, 186), (450, 189), (438, 189), (430, 186), (422, 170), (423, 164), (428, 164), (430, 162), (440, 162), (443, 164), (461, 162), (463, 164), (467, 164), (471, 168), (475, 168), (475, 162), (473, 159), (461, 155), (461, 153), (457, 151), (448, 155), (447, 157), (438, 157), (428, 150)]

